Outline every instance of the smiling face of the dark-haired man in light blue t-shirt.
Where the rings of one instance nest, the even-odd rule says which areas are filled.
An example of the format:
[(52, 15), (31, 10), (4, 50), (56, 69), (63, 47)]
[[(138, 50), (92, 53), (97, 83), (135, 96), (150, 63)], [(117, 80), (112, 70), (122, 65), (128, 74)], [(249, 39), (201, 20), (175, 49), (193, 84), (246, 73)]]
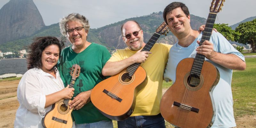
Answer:
[(175, 36), (186, 34), (191, 29), (190, 15), (187, 17), (180, 7), (175, 8), (169, 12), (166, 15), (166, 20), (169, 29)]

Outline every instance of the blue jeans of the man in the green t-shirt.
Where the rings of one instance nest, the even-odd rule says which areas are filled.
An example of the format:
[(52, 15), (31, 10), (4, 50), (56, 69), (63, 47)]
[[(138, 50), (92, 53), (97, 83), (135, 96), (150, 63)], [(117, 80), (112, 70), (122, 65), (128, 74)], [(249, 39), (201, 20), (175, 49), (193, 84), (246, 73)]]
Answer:
[(113, 128), (111, 121), (99, 121), (94, 123), (76, 124), (76, 128)]

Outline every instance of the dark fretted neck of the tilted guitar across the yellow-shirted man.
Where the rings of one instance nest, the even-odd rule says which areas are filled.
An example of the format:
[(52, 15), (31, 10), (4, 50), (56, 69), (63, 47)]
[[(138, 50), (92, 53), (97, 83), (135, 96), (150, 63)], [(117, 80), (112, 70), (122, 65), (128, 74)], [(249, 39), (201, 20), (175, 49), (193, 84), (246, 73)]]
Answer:
[[(153, 36), (151, 36), (151, 38), (148, 40), (148, 43), (142, 48), (141, 52), (150, 51), (160, 36), (160, 34), (155, 32)], [(139, 66), (140, 63), (134, 63), (130, 65), (126, 71), (128, 71), (129, 75), (132, 76)]]

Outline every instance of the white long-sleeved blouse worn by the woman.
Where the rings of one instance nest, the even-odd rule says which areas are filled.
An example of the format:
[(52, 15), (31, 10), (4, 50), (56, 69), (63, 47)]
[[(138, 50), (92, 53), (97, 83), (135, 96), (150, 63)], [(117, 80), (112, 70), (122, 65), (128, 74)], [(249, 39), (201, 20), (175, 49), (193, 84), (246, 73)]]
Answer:
[(16, 112), (15, 128), (43, 128), (41, 120), (52, 106), (44, 108), (46, 95), (63, 89), (60, 73), (56, 79), (42, 69), (29, 69), (21, 78), (17, 89), (20, 107)]

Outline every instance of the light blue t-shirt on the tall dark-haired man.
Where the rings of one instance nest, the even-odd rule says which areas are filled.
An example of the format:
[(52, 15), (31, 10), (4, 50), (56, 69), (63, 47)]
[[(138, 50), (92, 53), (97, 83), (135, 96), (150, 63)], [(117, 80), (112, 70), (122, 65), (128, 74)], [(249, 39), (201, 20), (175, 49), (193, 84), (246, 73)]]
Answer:
[[(188, 47), (182, 47), (178, 44), (178, 42), (172, 46), (169, 52), (169, 59), (164, 73), (165, 81), (172, 80), (173, 82), (175, 82), (176, 67), (182, 59), (196, 57), (195, 49), (199, 46), (196, 41), (200, 41), (201, 37), (202, 33)], [(240, 59), (245, 61), (244, 56), (240, 52), (238, 52), (220, 33), (216, 33), (215, 31), (213, 31), (210, 42), (213, 43), (214, 51), (224, 54), (235, 54)], [(235, 127), (236, 122), (233, 112), (233, 98), (231, 91), (231, 78), (233, 71), (231, 69), (224, 68), (219, 64), (216, 64), (206, 58), (205, 60), (211, 62), (216, 68), (218, 68), (220, 72), (219, 83), (216, 85), (215, 89), (212, 92), (216, 109), (216, 117), (213, 117), (213, 119), (215, 118), (215, 121), (211, 128)]]

